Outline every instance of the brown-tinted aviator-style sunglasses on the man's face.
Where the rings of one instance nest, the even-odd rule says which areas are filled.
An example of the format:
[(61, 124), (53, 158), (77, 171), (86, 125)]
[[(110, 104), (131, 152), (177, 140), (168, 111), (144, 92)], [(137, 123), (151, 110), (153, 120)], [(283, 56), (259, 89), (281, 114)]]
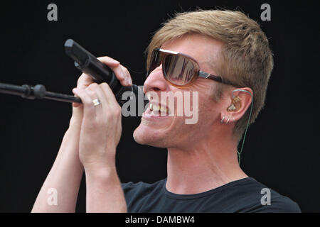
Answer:
[(222, 77), (200, 71), (198, 62), (191, 56), (181, 52), (171, 50), (154, 49), (151, 54), (150, 67), (146, 77), (162, 64), (164, 79), (175, 87), (188, 87), (198, 79), (198, 77), (212, 79), (215, 82), (229, 84), (238, 87)]

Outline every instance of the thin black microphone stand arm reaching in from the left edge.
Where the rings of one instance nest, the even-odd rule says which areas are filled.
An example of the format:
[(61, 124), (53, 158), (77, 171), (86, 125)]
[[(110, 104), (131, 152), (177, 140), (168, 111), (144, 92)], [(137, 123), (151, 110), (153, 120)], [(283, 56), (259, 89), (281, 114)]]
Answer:
[(32, 87), (31, 85), (27, 84), (17, 86), (13, 84), (0, 83), (0, 93), (14, 94), (21, 96), (24, 99), (50, 99), (70, 103), (82, 103), (81, 99), (72, 95), (47, 92), (46, 87), (44, 87), (42, 84), (37, 84), (36, 86)]

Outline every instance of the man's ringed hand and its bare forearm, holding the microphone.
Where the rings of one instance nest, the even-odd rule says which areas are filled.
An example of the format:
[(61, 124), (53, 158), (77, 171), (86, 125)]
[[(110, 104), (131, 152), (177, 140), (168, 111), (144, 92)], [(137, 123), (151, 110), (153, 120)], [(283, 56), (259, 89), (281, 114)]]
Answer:
[[(123, 86), (132, 85), (128, 70), (112, 60), (101, 57)], [(127, 204), (115, 168), (115, 153), (121, 137), (121, 107), (106, 83), (92, 83), (82, 74), (73, 93), (82, 104), (73, 105), (73, 123), (80, 123), (79, 157), (85, 169), (87, 212), (126, 212)], [(100, 104), (94, 105), (98, 99)], [(71, 121), (72, 122), (72, 121)]]

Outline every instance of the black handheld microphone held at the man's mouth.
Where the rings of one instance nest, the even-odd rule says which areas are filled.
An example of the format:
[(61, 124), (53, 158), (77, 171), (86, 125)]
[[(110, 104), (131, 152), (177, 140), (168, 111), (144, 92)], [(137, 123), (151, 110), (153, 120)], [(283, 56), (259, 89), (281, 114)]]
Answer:
[[(85, 48), (82, 48), (82, 46), (74, 40), (68, 39), (65, 41), (65, 53), (75, 60), (75, 67), (77, 67), (78, 70), (89, 74), (95, 82), (98, 84), (107, 82), (120, 105), (127, 101), (122, 100), (122, 94), (124, 94), (124, 92), (132, 92), (132, 96), (134, 95), (136, 100), (138, 100), (138, 96), (141, 95), (144, 99), (142, 89), (135, 84), (128, 87), (122, 86), (110, 67), (107, 67), (107, 65), (100, 62), (100, 60), (97, 60), (97, 57), (85, 50)], [(144, 101), (144, 106), (145, 104), (146, 102)]]

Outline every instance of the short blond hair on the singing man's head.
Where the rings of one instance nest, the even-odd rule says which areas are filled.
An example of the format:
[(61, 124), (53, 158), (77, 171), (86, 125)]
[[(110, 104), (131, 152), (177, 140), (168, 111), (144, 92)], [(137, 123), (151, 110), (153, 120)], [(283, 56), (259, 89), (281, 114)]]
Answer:
[[(267, 83), (273, 68), (269, 42), (259, 24), (240, 11), (198, 10), (176, 13), (154, 34), (147, 48), (146, 67), (149, 68), (152, 50), (161, 48), (168, 40), (188, 34), (206, 35), (224, 43), (215, 72), (240, 87), (252, 89), (254, 102), (250, 123), (253, 123), (265, 104)], [(245, 131), (249, 114), (250, 111), (247, 111), (235, 124), (233, 133), (239, 138)]]

